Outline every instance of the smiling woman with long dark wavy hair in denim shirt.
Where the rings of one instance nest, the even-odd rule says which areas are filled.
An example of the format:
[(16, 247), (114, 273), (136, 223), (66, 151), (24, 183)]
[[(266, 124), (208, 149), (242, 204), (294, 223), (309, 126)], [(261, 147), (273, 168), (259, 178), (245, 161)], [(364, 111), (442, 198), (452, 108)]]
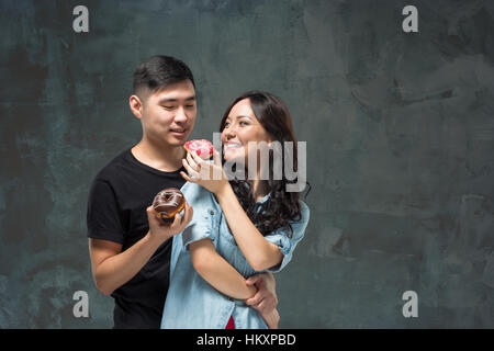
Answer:
[[(262, 162), (260, 150), (251, 147), (251, 141), (293, 141), (296, 168), (296, 139), (284, 103), (267, 92), (245, 93), (226, 110), (220, 132), (223, 160), (217, 151), (214, 163), (191, 154), (183, 160), (188, 174), (181, 174), (188, 182), (181, 190), (194, 212), (186, 230), (173, 237), (161, 328), (276, 328), (276, 309), (261, 316), (245, 304), (256, 293), (245, 278), (283, 269), (307, 226), (308, 207), (299, 193), (285, 190), (296, 180), (287, 180), (284, 167), (280, 180), (272, 170), (262, 173), (274, 163), (273, 152)], [(284, 162), (282, 156), (279, 161)], [(256, 177), (228, 181), (224, 162)]]

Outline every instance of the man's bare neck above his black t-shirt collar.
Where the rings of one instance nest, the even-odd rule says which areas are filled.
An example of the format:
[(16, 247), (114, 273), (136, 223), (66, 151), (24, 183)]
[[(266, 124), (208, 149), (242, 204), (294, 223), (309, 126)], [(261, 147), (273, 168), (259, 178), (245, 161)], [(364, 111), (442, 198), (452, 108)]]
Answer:
[(139, 162), (164, 172), (175, 172), (180, 169), (182, 158), (186, 157), (183, 146), (157, 146), (145, 138), (131, 151)]

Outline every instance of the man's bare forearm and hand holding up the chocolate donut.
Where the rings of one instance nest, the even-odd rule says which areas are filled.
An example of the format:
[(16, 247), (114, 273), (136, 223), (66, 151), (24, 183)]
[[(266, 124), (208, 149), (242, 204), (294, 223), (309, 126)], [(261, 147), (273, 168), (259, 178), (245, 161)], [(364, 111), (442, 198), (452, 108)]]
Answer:
[(177, 214), (171, 225), (157, 218), (151, 206), (146, 211), (149, 231), (127, 250), (122, 252), (121, 244), (89, 239), (92, 276), (98, 290), (104, 295), (110, 295), (128, 282), (149, 261), (158, 247), (181, 233), (192, 218), (192, 207), (187, 203), (183, 219)]

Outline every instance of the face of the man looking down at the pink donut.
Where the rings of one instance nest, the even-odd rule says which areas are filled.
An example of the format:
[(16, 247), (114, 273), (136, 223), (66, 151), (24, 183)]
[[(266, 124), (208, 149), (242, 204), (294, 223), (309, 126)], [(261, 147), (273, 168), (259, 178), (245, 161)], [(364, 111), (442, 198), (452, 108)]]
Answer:
[(144, 98), (142, 121), (146, 136), (167, 146), (182, 146), (195, 123), (194, 86), (183, 80)]

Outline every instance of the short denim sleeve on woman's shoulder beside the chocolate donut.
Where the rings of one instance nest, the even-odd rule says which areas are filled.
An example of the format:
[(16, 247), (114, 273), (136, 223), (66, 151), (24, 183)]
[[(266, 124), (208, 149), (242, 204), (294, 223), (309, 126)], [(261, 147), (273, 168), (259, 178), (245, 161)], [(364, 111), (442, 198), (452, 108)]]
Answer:
[(213, 194), (195, 183), (186, 183), (181, 191), (193, 210), (192, 220), (181, 235), (182, 248), (189, 250), (191, 242), (205, 238), (216, 246), (220, 213)]

